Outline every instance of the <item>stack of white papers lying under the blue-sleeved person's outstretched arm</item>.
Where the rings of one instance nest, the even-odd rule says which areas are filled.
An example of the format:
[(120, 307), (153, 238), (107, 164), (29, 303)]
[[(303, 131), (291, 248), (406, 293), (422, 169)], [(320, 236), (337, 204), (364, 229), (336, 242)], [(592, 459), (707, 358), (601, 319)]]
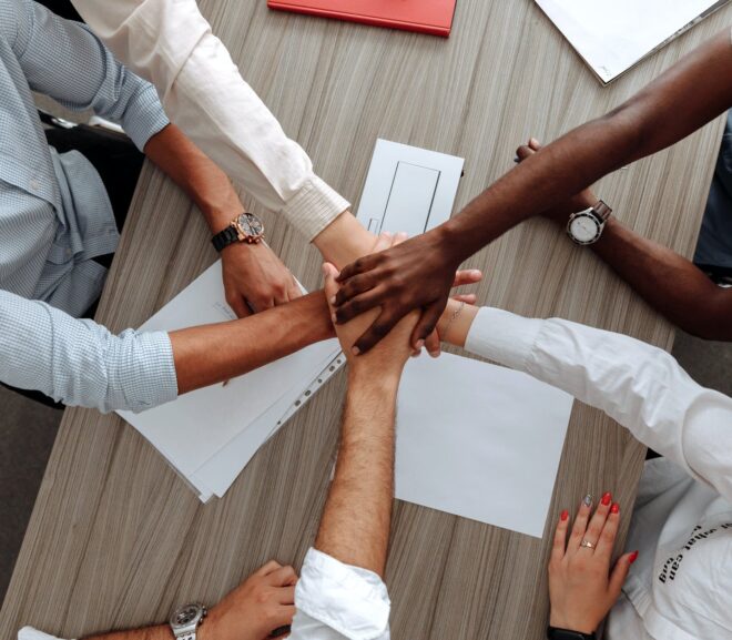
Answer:
[[(175, 331), (235, 318), (224, 302), (221, 263), (150, 318), (143, 331)], [(336, 339), (231, 380), (181, 396), (149, 412), (120, 415), (199, 492), (222, 497), (252, 456), (344, 362)], [(318, 380), (322, 380), (318, 383)]]

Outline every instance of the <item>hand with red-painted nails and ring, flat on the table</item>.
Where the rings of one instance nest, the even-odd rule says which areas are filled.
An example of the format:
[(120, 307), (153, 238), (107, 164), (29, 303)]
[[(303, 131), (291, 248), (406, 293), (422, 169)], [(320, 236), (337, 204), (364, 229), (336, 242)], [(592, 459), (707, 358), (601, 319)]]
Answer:
[[(549, 624), (592, 633), (617, 602), (630, 566), (638, 558), (638, 551), (626, 553), (612, 567), (619, 524), (620, 506), (612, 502), (609, 492), (602, 496), (594, 515), (591, 498), (582, 501), (569, 540), (569, 514), (562, 511), (549, 561)], [(594, 548), (582, 547), (582, 540)]]

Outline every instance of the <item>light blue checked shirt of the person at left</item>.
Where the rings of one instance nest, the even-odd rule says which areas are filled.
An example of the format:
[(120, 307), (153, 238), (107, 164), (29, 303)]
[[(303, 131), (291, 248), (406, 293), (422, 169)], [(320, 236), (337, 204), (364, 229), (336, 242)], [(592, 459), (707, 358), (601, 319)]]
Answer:
[(105, 412), (170, 400), (165, 334), (115, 337), (72, 317), (101, 293), (106, 272), (92, 258), (119, 234), (94, 167), (49, 149), (31, 90), (119, 122), (141, 150), (169, 123), (154, 88), (84, 26), (0, 0), (0, 382)]

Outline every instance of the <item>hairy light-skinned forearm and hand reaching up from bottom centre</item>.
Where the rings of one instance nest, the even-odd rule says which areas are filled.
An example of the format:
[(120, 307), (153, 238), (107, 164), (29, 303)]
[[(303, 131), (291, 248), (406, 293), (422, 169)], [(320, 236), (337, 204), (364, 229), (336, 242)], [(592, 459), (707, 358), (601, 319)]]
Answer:
[[(390, 237), (386, 238), (390, 244)], [(333, 265), (324, 265), (325, 294), (337, 293)], [(409, 335), (417, 315), (407, 316), (367, 357), (350, 353), (368, 316), (338, 327), (348, 358), (348, 392), (335, 476), (315, 548), (355, 567), (384, 576), (394, 502), (394, 421), (401, 372), (411, 354)]]

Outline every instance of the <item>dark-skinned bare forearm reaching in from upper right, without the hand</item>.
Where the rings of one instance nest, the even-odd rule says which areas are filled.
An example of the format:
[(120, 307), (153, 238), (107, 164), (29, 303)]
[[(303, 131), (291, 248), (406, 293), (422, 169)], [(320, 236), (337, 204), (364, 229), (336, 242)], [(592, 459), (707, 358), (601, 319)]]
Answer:
[(607, 173), (685, 138), (732, 102), (720, 77), (732, 74), (729, 32), (682, 59), (606, 116), (541, 149), (438, 227), (459, 264), (500, 234)]

